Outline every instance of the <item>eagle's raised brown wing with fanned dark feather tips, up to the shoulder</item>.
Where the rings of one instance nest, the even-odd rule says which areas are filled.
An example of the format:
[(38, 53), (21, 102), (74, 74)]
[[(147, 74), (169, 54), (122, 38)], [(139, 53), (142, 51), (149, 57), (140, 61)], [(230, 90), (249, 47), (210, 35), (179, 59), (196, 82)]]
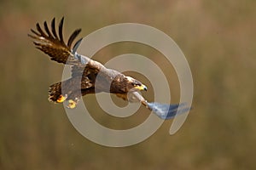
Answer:
[[(73, 65), (73, 75), (78, 75), (84, 71), (84, 76), (90, 74), (90, 72), (98, 72), (104, 66), (88, 57), (80, 54), (75, 54), (76, 48), (82, 38), (80, 38), (73, 46), (74, 39), (79, 35), (81, 29), (73, 31), (72, 35), (68, 38), (67, 43), (63, 40), (63, 22), (64, 17), (61, 19), (59, 24), (58, 34), (55, 30), (55, 18), (51, 21), (51, 31), (47, 22), (44, 21), (44, 31), (41, 26), (37, 23), (37, 31), (31, 29), (33, 35), (28, 34), (29, 37), (34, 39), (36, 48), (48, 54), (50, 59), (57, 61), (58, 63)], [(88, 70), (88, 71), (86, 71)]]

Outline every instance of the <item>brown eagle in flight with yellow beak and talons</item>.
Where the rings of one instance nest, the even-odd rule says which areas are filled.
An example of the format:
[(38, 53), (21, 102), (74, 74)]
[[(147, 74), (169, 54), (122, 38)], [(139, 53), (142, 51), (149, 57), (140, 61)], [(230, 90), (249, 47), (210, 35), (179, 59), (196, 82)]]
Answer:
[[(51, 20), (50, 27), (44, 21), (44, 29), (36, 24), (36, 31), (31, 29), (36, 48), (49, 55), (51, 60), (72, 67), (72, 75), (69, 79), (56, 82), (49, 86), (49, 100), (55, 103), (67, 101), (67, 107), (73, 109), (78, 105), (79, 99), (86, 94), (111, 93), (129, 102), (140, 102), (148, 110), (161, 119), (170, 119), (177, 115), (177, 108), (184, 104), (160, 104), (149, 103), (139, 91), (147, 91), (147, 87), (133, 77), (127, 77), (119, 71), (106, 68), (100, 62), (77, 53), (79, 44), (83, 38), (73, 42), (78, 37), (81, 29), (73, 31), (67, 42), (63, 38), (64, 17), (61, 18), (56, 31), (55, 18)], [(50, 29), (49, 29), (50, 28)], [(180, 112), (188, 111), (184, 108)]]

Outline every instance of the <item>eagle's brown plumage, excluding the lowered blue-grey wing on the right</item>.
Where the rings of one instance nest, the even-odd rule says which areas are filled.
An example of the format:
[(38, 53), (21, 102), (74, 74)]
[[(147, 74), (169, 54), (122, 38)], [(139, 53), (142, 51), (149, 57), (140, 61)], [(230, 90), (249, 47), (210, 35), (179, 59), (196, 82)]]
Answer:
[[(127, 94), (130, 90), (146, 90), (142, 82), (131, 77), (125, 77), (122, 73), (107, 69), (97, 61), (74, 53), (72, 44), (81, 29), (73, 31), (65, 43), (62, 35), (63, 22), (64, 18), (59, 24), (58, 34), (55, 30), (54, 18), (51, 21), (51, 31), (49, 31), (47, 22), (44, 21), (44, 31), (37, 23), (37, 31), (31, 30), (33, 35), (28, 35), (34, 39), (36, 48), (48, 54), (50, 59), (65, 65), (72, 65), (72, 77), (70, 79), (57, 82), (49, 87), (49, 100), (61, 103), (67, 99), (73, 105), (78, 102), (81, 94), (99, 92)], [(86, 63), (83, 63), (81, 58), (86, 60)], [(124, 98), (125, 95), (118, 96), (126, 99)]]

